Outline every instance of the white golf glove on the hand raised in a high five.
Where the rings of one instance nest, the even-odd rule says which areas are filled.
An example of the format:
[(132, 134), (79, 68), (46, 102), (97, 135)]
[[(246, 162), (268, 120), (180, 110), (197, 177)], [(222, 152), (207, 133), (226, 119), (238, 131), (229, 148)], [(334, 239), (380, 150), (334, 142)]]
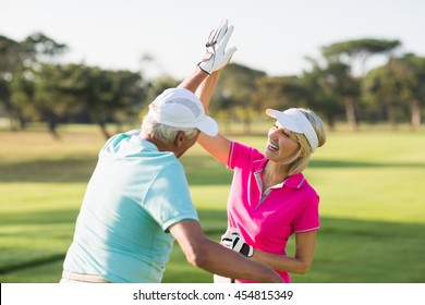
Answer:
[(209, 34), (205, 45), (206, 53), (197, 64), (203, 71), (211, 74), (220, 70), (230, 61), (230, 58), (236, 51), (235, 47), (226, 50), (230, 36), (233, 32), (233, 25), (228, 27), (228, 21), (221, 21), (220, 24)]

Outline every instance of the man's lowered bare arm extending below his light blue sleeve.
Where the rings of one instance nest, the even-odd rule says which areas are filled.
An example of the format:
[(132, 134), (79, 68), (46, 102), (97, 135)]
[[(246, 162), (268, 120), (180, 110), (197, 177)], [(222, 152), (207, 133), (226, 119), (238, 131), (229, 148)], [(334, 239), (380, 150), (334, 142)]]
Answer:
[(179, 242), (187, 261), (219, 276), (264, 283), (281, 283), (281, 278), (269, 267), (250, 260), (243, 255), (212, 242), (203, 232), (199, 223), (184, 220), (169, 228)]

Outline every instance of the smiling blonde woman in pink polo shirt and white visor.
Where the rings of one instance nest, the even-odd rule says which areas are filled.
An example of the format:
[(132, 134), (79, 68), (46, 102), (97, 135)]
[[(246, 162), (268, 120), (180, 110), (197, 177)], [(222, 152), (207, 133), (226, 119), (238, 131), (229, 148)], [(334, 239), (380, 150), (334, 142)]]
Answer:
[[(205, 110), (219, 73), (207, 77), (196, 93)], [(325, 144), (326, 134), (321, 120), (309, 110), (268, 109), (266, 113), (276, 123), (268, 132), (264, 152), (221, 134), (201, 134), (198, 143), (234, 171), (228, 199), (229, 229), (222, 243), (271, 267), (284, 282), (291, 282), (290, 272), (305, 273), (313, 261), (319, 196), (302, 171), (316, 148)], [(286, 246), (292, 234), (295, 255), (290, 257)]]

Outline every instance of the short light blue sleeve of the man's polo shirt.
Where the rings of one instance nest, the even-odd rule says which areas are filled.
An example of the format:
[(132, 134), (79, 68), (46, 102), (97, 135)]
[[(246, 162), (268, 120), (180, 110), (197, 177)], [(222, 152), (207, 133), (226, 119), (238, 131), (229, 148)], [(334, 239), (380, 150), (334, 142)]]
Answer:
[(180, 164), (166, 167), (158, 173), (146, 194), (144, 207), (165, 232), (182, 220), (199, 221)]

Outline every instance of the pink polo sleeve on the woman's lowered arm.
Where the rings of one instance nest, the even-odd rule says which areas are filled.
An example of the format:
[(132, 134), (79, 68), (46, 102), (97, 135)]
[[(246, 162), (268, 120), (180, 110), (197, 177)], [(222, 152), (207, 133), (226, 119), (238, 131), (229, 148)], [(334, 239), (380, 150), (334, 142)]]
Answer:
[(305, 233), (317, 231), (320, 229), (320, 220), (318, 213), (319, 197), (316, 193), (309, 194), (303, 198), (304, 205), (295, 217), (293, 228), (295, 233)]

